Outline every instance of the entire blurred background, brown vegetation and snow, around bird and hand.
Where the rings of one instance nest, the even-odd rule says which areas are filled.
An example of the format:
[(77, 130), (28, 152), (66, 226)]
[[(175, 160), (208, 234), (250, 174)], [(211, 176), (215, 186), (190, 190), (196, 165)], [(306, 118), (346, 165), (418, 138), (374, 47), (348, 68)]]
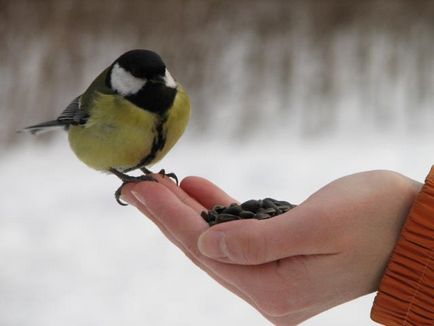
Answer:
[[(299, 203), (361, 170), (423, 180), (433, 35), (429, 0), (0, 0), (0, 324), (266, 323), (118, 207), (117, 180), (76, 160), (64, 134), (16, 133), (121, 53), (159, 52), (190, 94), (166, 170)], [(305, 325), (373, 324), (371, 301)]]

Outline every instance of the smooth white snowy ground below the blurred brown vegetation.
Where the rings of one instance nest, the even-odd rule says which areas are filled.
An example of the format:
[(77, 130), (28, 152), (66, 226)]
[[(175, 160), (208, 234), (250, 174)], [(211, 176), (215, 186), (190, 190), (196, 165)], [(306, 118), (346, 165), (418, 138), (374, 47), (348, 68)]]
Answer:
[[(298, 203), (335, 178), (369, 169), (422, 181), (434, 162), (434, 145), (418, 136), (280, 138), (243, 146), (194, 138), (184, 138), (164, 167), (181, 177), (206, 176), (239, 200), (271, 196)], [(76, 160), (64, 135), (2, 156), (0, 325), (267, 324), (134, 208), (117, 205), (119, 182)], [(373, 325), (372, 299), (304, 325)]]

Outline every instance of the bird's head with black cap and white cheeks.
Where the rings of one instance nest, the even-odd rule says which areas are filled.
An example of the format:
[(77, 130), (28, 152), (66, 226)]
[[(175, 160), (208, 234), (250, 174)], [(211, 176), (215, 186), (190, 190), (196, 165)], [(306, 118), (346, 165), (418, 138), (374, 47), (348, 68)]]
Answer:
[(116, 93), (128, 97), (145, 87), (162, 85), (175, 89), (176, 81), (161, 57), (150, 50), (131, 50), (110, 66), (106, 84)]

